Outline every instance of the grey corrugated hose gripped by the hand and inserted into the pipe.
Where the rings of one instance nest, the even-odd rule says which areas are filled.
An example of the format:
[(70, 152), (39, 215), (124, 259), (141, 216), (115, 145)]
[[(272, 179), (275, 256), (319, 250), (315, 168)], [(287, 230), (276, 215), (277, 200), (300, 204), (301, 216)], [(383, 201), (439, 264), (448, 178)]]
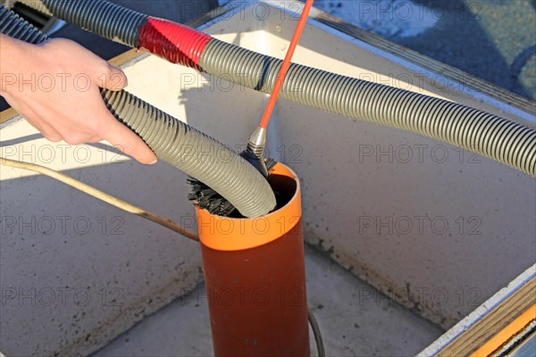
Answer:
[[(0, 31), (34, 44), (46, 40), (4, 5), (0, 6)], [(136, 132), (160, 159), (213, 188), (242, 215), (259, 217), (275, 207), (268, 181), (239, 154), (135, 95), (107, 89), (101, 93), (115, 118)]]

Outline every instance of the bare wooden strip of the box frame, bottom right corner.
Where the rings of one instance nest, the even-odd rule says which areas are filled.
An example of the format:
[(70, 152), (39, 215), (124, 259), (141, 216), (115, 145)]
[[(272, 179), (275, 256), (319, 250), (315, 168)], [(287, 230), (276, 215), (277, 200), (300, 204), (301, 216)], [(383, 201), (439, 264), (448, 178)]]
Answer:
[(464, 333), (457, 336), (449, 345), (445, 346), (438, 356), (468, 356), (475, 353), (485, 345), (490, 338), (507, 328), (524, 311), (536, 303), (536, 278), (532, 278), (514, 294), (498, 304), (493, 310), (482, 317), (481, 320), (467, 328)]

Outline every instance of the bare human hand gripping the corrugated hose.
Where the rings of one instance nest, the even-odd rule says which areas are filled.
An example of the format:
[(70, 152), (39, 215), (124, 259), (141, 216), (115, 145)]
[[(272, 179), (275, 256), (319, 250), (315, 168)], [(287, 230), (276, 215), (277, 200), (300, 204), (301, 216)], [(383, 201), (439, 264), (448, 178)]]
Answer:
[(125, 74), (67, 39), (41, 45), (0, 35), (0, 95), (44, 137), (71, 145), (106, 140), (141, 163), (155, 153), (116, 120), (100, 88), (121, 90)]

